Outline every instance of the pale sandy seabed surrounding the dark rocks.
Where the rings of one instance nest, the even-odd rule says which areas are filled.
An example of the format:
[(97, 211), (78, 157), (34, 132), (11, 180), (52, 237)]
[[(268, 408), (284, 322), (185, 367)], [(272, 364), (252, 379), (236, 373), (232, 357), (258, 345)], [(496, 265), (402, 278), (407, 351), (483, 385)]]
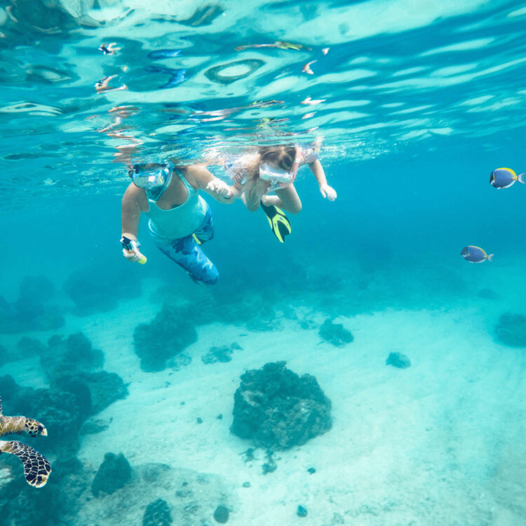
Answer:
[[(130, 301), (104, 315), (69, 317), (62, 331), (82, 330), (104, 350), (105, 369), (128, 383), (129, 396), (97, 415), (109, 428), (82, 438), (78, 457), (89, 476), (106, 452), (123, 453), (134, 470), (168, 464), (178, 473), (174, 484), (191, 473), (209, 474), (209, 487), (219, 489), (203, 495), (210, 499), (208, 526), (216, 523), (215, 502), (227, 505), (232, 526), (526, 524), (526, 352), (494, 341), (497, 306), (339, 317), (354, 336), (343, 347), (285, 317), (280, 330), (268, 332), (215, 323), (197, 328), (198, 341), (186, 349), (189, 365), (146, 373), (133, 330), (158, 310)], [(317, 325), (326, 318), (305, 307), (296, 314)], [(242, 349), (230, 362), (201, 361), (210, 347), (232, 342)], [(410, 358), (410, 368), (386, 366), (396, 351)], [(332, 401), (333, 427), (276, 452), (276, 471), (263, 474), (266, 452), (256, 450), (247, 461), (251, 444), (229, 427), (240, 375), (279, 360), (317, 378)], [(28, 372), (24, 362), (4, 366), (5, 373), (41, 387), (38, 370)], [(148, 498), (166, 494), (152, 484), (125, 511), (112, 506), (129, 502), (126, 488), (86, 501), (79, 524), (83, 517), (90, 526), (123, 524), (125, 516), (140, 524)], [(298, 517), (298, 505), (307, 517)]]

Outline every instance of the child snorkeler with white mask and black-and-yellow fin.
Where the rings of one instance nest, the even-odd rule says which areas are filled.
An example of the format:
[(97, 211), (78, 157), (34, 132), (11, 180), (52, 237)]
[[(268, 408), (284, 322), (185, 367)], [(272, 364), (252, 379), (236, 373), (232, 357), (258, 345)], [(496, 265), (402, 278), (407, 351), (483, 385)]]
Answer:
[[(261, 205), (270, 228), (280, 242), (290, 234), (290, 222), (283, 210), (290, 214), (301, 211), (301, 200), (294, 181), (301, 166), (308, 165), (329, 201), (336, 199), (336, 190), (327, 184), (325, 172), (318, 159), (318, 147), (261, 146), (255, 153), (229, 160), (225, 169), (234, 181), (245, 206), (255, 211)], [(269, 193), (275, 195), (268, 195)]]

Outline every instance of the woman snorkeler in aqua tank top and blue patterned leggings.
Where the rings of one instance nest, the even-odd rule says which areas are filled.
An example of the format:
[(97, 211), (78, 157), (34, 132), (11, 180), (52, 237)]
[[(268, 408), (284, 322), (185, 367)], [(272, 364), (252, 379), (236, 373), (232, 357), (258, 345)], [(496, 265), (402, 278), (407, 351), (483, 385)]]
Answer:
[(204, 190), (219, 203), (234, 201), (236, 190), (217, 179), (203, 166), (171, 166), (169, 163), (131, 164), (131, 183), (122, 203), (123, 255), (129, 261), (145, 263), (137, 239), (141, 213), (149, 216), (148, 227), (163, 254), (187, 271), (199, 285), (218, 280), (215, 265), (201, 249), (214, 237), (208, 203), (199, 195)]

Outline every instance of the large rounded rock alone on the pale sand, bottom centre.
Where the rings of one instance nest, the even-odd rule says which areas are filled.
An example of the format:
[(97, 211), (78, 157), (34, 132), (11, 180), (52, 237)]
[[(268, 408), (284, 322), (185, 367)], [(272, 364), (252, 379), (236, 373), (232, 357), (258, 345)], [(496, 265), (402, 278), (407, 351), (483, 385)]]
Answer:
[(311, 375), (299, 377), (286, 362), (267, 363), (241, 375), (230, 431), (256, 446), (290, 448), (332, 426), (331, 402)]

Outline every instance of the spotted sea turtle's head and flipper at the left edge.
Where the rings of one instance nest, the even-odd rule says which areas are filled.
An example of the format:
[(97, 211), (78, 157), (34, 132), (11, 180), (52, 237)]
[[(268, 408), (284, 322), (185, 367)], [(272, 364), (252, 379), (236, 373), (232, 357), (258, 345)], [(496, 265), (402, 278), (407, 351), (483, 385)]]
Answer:
[[(4, 434), (28, 434), (30, 437), (46, 437), (46, 428), (36, 420), (26, 417), (4, 417), (0, 398), (0, 437)], [(24, 464), (24, 477), (35, 488), (42, 488), (47, 482), (51, 466), (49, 461), (23, 442), (0, 440), (0, 454), (12, 453)]]

